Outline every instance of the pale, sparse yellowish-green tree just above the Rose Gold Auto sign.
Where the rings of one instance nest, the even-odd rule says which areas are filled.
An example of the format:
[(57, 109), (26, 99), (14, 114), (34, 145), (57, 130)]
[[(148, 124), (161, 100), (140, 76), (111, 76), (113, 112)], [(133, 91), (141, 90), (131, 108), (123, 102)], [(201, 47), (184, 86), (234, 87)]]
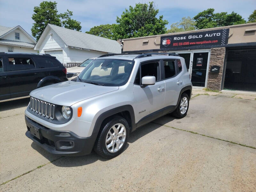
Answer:
[(196, 30), (195, 25), (195, 20), (191, 19), (190, 17), (182, 17), (180, 22), (172, 23), (171, 28), (167, 30), (167, 33)]

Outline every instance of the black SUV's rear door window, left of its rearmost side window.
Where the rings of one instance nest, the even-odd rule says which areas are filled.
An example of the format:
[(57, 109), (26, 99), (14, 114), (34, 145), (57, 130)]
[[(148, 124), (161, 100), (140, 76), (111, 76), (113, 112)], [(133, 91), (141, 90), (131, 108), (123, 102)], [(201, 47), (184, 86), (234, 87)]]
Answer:
[(34, 69), (35, 63), (30, 58), (8, 58), (9, 66), (8, 71), (19, 71), (19, 70), (28, 70)]

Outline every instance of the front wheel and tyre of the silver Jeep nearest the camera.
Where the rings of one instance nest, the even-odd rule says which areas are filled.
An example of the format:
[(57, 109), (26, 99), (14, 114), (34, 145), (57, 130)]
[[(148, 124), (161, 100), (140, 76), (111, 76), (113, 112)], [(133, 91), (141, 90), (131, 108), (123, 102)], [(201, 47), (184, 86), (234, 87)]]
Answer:
[(104, 158), (113, 158), (123, 152), (129, 136), (129, 125), (123, 117), (115, 117), (109, 120), (99, 137), (94, 151)]

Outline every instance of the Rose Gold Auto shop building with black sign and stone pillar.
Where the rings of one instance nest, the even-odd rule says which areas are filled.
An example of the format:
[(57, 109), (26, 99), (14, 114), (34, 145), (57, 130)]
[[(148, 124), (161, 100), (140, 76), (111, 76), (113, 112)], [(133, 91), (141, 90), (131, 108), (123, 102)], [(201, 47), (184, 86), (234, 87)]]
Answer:
[(123, 53), (171, 52), (197, 88), (256, 91), (256, 23), (122, 39)]

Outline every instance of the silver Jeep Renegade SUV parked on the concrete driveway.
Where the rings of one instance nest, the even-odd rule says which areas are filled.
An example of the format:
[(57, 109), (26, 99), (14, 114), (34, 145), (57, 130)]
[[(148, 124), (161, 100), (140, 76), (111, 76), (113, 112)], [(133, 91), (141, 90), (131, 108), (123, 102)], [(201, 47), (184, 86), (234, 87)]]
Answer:
[(172, 53), (102, 55), (72, 81), (30, 93), (26, 136), (50, 153), (112, 158), (129, 133), (168, 113), (188, 112), (192, 84)]

